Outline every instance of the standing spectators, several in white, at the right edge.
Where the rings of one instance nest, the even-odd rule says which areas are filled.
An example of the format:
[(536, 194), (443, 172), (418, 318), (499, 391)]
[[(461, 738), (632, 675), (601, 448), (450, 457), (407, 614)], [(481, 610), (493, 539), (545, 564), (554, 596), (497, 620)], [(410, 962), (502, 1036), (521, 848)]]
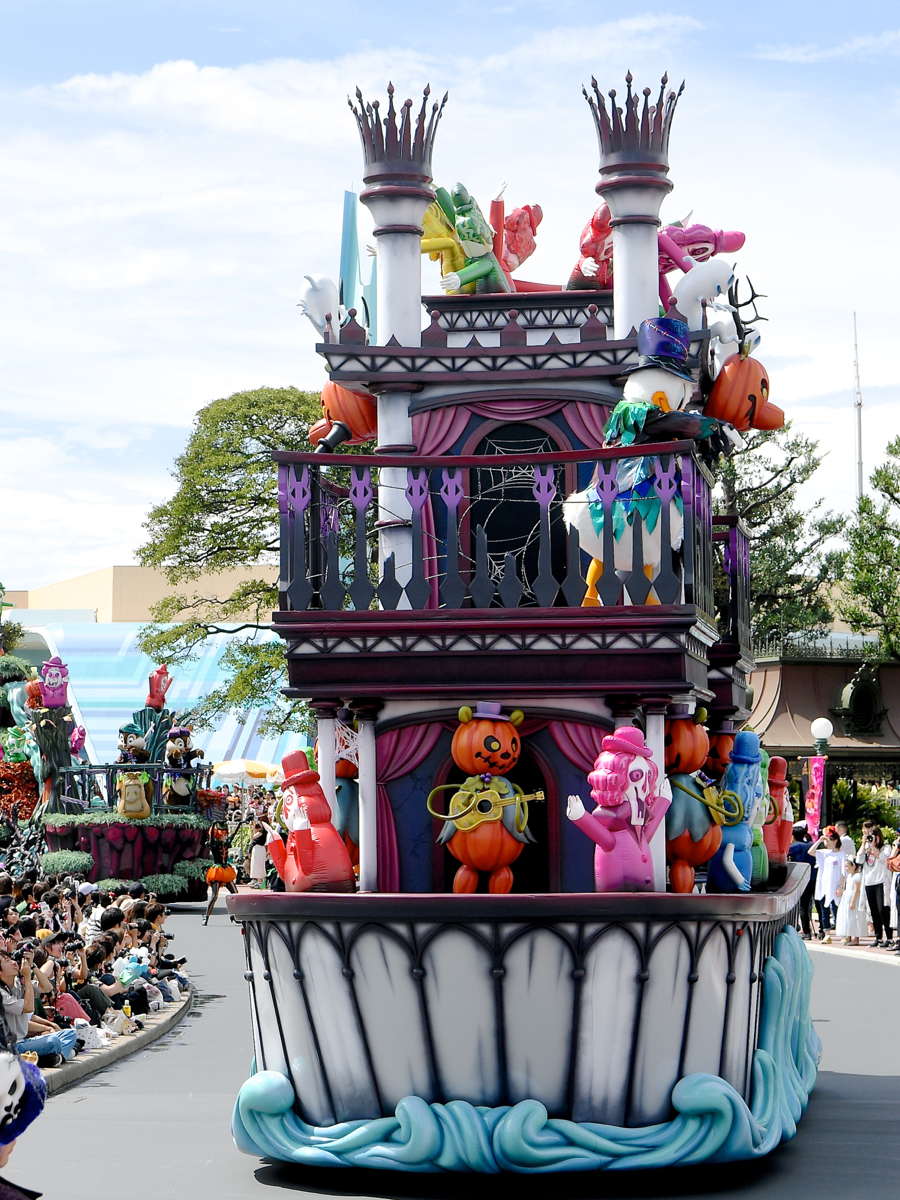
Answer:
[(888, 845), (883, 829), (865, 821), (857, 846), (844, 822), (826, 826), (814, 841), (800, 821), (788, 856), (811, 866), (800, 901), (804, 940), (865, 943), (900, 956), (900, 830)]

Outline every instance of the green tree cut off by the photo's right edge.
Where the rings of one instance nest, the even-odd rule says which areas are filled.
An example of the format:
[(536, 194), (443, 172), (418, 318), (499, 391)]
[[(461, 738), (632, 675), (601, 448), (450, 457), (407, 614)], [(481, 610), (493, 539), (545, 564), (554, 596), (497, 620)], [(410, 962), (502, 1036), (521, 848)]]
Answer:
[(900, 438), (869, 482), (847, 529), (850, 553), (839, 611), (854, 634), (877, 634), (881, 655), (900, 660)]

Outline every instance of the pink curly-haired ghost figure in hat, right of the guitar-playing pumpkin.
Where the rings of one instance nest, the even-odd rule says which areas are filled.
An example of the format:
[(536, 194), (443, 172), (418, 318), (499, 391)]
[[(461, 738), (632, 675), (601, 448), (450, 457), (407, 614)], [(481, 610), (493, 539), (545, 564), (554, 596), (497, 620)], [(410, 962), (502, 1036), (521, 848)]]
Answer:
[(596, 844), (598, 892), (653, 892), (650, 839), (671, 802), (656, 794), (659, 772), (640, 730), (617, 730), (601, 745), (588, 775), (596, 808), (586, 812), (570, 796), (566, 816)]

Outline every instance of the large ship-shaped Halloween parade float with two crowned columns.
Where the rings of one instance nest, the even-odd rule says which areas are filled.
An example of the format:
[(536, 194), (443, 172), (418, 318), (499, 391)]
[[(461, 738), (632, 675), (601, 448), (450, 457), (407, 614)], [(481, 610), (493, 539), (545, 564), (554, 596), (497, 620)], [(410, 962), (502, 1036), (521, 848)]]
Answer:
[[(228, 899), (246, 1153), (733, 1162), (805, 1110), (806, 868), (782, 853), (784, 763), (742, 728), (748, 539), (712, 505), (739, 431), (784, 418), (725, 257), (744, 235), (660, 228), (680, 92), (631, 83), (584, 92), (601, 204), (566, 286), (515, 274), (539, 206), (488, 223), (433, 186), (444, 102), (350, 102), (377, 305), (308, 277), (323, 421), (275, 456), (274, 628), (318, 772), (286, 763), (287, 890)], [(442, 270), (424, 300), (422, 254)]]

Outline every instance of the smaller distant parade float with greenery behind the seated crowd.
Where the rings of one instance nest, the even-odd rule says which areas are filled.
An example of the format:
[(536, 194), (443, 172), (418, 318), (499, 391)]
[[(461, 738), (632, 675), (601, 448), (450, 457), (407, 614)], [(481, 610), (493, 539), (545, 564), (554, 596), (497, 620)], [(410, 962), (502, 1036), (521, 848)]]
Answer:
[[(4, 656), (6, 658), (6, 656)], [(0, 659), (2, 662), (4, 659)], [(170, 676), (149, 679), (144, 707), (119, 731), (119, 755), (91, 763), (68, 700), (68, 670), (53, 656), (5, 672), (0, 811), (8, 853), (41, 857), (44, 871), (90, 882), (142, 880), (174, 899), (205, 898), (210, 830), (226, 815), (192, 731), (166, 707)], [(24, 859), (19, 865), (25, 865)]]

